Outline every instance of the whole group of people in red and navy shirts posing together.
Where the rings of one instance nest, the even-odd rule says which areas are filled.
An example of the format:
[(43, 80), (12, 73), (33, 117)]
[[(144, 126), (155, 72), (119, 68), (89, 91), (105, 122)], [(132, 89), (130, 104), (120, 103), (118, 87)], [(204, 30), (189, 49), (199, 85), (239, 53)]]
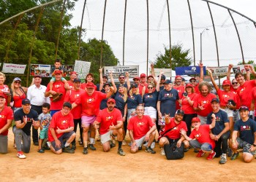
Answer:
[[(127, 144), (128, 130), (132, 154), (143, 146), (146, 152), (155, 154), (154, 147), (159, 143), (165, 155), (164, 146), (176, 143), (177, 147), (184, 145), (184, 151), (195, 149), (196, 157), (205, 153), (209, 160), (220, 157), (220, 164), (227, 162), (227, 155), (236, 159), (240, 148), (244, 162), (251, 162), (255, 155), (256, 122), (251, 118), (255, 117), (256, 81), (246, 80), (249, 74), (256, 76), (252, 66), (245, 66), (246, 79), (244, 74), (236, 73), (236, 79), (230, 82), (230, 65), (223, 90), (208, 69), (217, 95), (211, 93), (211, 84), (203, 82), (202, 63), (198, 82), (192, 78), (187, 84), (181, 76), (176, 76), (174, 82), (166, 79), (162, 71), (157, 77), (153, 65), (152, 75), (140, 74), (132, 83), (129, 73), (120, 74), (115, 83), (112, 73), (103, 75), (100, 68), (97, 85), (93, 74), (87, 74), (86, 82), (81, 83), (75, 71), (67, 81), (60, 60), (55, 66), (47, 87), (35, 75), (29, 88), (21, 87), (21, 80), (15, 78), (9, 89), (0, 73), (1, 153), (7, 153), (8, 128), (14, 119), (14, 146), (21, 159), (29, 153), (32, 126), (33, 143), (39, 145), (39, 153), (50, 149), (55, 154), (74, 154), (75, 138), (80, 136), (83, 154), (89, 154), (89, 149), (96, 150), (98, 131), (103, 151), (110, 151), (117, 142), (117, 153), (124, 156), (122, 146)], [(76, 134), (78, 126), (80, 135)]]

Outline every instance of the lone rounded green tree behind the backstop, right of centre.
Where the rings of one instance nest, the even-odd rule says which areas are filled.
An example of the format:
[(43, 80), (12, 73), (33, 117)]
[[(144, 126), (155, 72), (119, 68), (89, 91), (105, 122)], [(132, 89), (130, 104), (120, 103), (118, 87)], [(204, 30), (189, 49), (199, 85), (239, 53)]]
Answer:
[(155, 61), (155, 68), (172, 68), (175, 70), (176, 67), (190, 66), (192, 63), (192, 58), (189, 58), (190, 50), (182, 50), (182, 44), (173, 45), (171, 48), (172, 59), (170, 66), (170, 49), (165, 47), (165, 54), (159, 52), (157, 54), (157, 59)]

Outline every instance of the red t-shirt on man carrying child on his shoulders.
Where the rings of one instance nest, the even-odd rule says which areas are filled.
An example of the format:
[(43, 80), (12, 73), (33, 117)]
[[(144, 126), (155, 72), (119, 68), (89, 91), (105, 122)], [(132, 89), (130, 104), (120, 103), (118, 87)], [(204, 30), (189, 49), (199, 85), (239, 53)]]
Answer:
[[(45, 92), (49, 92), (49, 91), (50, 91), (50, 84), (47, 85)], [(58, 100), (56, 102), (53, 102), (53, 97), (50, 98), (50, 110), (61, 110), (64, 103), (65, 95), (66, 95), (64, 83), (61, 81), (53, 82), (53, 91), (61, 92), (62, 97), (61, 97), (61, 100)]]

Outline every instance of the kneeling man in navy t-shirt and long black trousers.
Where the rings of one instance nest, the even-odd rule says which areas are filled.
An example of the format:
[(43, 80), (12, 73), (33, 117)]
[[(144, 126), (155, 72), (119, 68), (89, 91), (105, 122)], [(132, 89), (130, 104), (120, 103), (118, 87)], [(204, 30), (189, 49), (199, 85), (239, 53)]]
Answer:
[(211, 129), (210, 137), (216, 144), (215, 157), (220, 157), (219, 164), (225, 164), (227, 162), (227, 139), (230, 137), (230, 121), (227, 118), (227, 113), (219, 107), (219, 98), (211, 100), (211, 107), (213, 111), (208, 114), (206, 124), (211, 124), (211, 115), (215, 114), (216, 124)]

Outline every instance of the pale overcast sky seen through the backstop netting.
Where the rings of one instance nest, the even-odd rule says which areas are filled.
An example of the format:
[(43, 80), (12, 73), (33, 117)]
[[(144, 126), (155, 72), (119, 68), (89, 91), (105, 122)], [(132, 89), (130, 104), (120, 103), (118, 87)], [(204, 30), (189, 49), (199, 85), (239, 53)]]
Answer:
[[(104, 0), (102, 0), (102, 1), (104, 1)], [(132, 4), (132, 1), (136, 2), (138, 4), (136, 4), (135, 7), (130, 7), (130, 9), (134, 10), (134, 14), (136, 14), (136, 13), (140, 14), (140, 12), (136, 12), (136, 8), (139, 7), (140, 5), (145, 6), (146, 0), (136, 0), (136, 1), (128, 0), (127, 2), (129, 4)], [(193, 1), (195, 2), (198, 0), (191, 0), (191, 4)], [(256, 1), (255, 0), (212, 0), (212, 1), (214, 1), (218, 4), (222, 4), (231, 9), (234, 9), (237, 12), (240, 12), (241, 14), (244, 14), (247, 17), (251, 18), (252, 20), (256, 21), (256, 13), (255, 13)], [(72, 12), (72, 14), (74, 16), (71, 20), (72, 26), (80, 25), (80, 18), (81, 18), (81, 13), (83, 10), (83, 2), (84, 2), (84, 0), (79, 0), (78, 2), (76, 2), (75, 11)], [(91, 9), (86, 9), (86, 11), (88, 11), (88, 13), (87, 14), (85, 13), (85, 15), (84, 15), (84, 20), (83, 20), (84, 24), (83, 25), (86, 26), (86, 28), (89, 28), (88, 26), (90, 26), (90, 28), (94, 29), (94, 30), (90, 31), (90, 32), (88, 31), (88, 33), (86, 34), (86, 38), (84, 39), (85, 41), (86, 41), (86, 39), (93, 39), (94, 36), (97, 37), (97, 39), (101, 39), (101, 26), (100, 25), (102, 25), (102, 20), (99, 20), (99, 23), (98, 23), (99, 27), (97, 27), (96, 25), (94, 26), (95, 20), (93, 20), (93, 17), (95, 17), (95, 15), (97, 15), (97, 13), (99, 14), (99, 12), (102, 11), (100, 9), (102, 9), (103, 7), (95, 6), (96, 2), (97, 1), (87, 0), (88, 7)], [(111, 2), (114, 2), (115, 4), (111, 4)], [(112, 8), (110, 10), (107, 8), (107, 12), (106, 12), (106, 20), (107, 21), (105, 22), (105, 30), (108, 30), (108, 31), (105, 32), (104, 38), (108, 40), (108, 43), (110, 44), (110, 47), (112, 47), (114, 54), (116, 55), (118, 60), (120, 60), (120, 62), (122, 63), (122, 59), (123, 59), (122, 58), (122, 44), (120, 43), (120, 42), (122, 42), (122, 40), (121, 40), (122, 30), (123, 30), (123, 27), (121, 26), (122, 24), (119, 23), (118, 20), (116, 20), (116, 22), (114, 22), (114, 24), (117, 27), (113, 28), (113, 24), (111, 24), (111, 26), (110, 26), (108, 23), (108, 20), (109, 20), (108, 15), (110, 15), (110, 13), (114, 14), (115, 12), (123, 11), (122, 8), (118, 8), (121, 6), (121, 4), (118, 4), (120, 2), (121, 2), (121, 0), (108, 1), (109, 6), (111, 4), (112, 6), (116, 6), (116, 8)], [(140, 2), (142, 4), (140, 4)], [(156, 0), (149, 0), (149, 3), (151, 3), (151, 2), (156, 2)], [(184, 1), (184, 2), (185, 2), (185, 4), (183, 4), (183, 5), (186, 6), (187, 1)], [(133, 4), (135, 4), (135, 3), (133, 3)], [(198, 9), (198, 12), (200, 12), (200, 11), (202, 11), (203, 8), (204, 9), (207, 8), (206, 6), (193, 7), (193, 4), (191, 6), (195, 12), (197, 9)], [(94, 7), (94, 9), (92, 9), (92, 7)], [(157, 5), (156, 5), (155, 9), (159, 8), (160, 10), (162, 10), (162, 7), (165, 7), (165, 6), (159, 5), (159, 7), (157, 7)], [(165, 7), (165, 9), (166, 9), (166, 7)], [(110, 12), (108, 12), (108, 10)], [(182, 9), (181, 9), (181, 11), (182, 11)], [(218, 11), (218, 9), (216, 9), (216, 11)], [(203, 13), (206, 13), (206, 12), (201, 12), (201, 14), (198, 13), (198, 16), (203, 17), (204, 16)], [(127, 16), (128, 15), (129, 15), (129, 17), (133, 18), (131, 20), (131, 23), (129, 23), (127, 20), (127, 26), (129, 26), (129, 28), (131, 28), (132, 25), (134, 25), (132, 23), (135, 21), (138, 21), (139, 24), (143, 25), (143, 28), (145, 27), (146, 19), (143, 19), (143, 17), (141, 17), (141, 15), (139, 15), (141, 18), (137, 18), (137, 17), (135, 17), (135, 15), (132, 15), (132, 13), (129, 14), (129, 12), (128, 12)], [(214, 14), (214, 15), (216, 15), (216, 14)], [(159, 29), (162, 28), (162, 30), (165, 30), (167, 27), (165, 27), (162, 23), (162, 22), (164, 22), (165, 17), (163, 17), (161, 19), (162, 20), (162, 22), (161, 22), (159, 20), (159, 18), (157, 19), (157, 16), (158, 15), (152, 15), (150, 24), (151, 25), (154, 24), (152, 22), (155, 21), (154, 28), (157, 27)], [(91, 22), (89, 22), (90, 24), (86, 23), (86, 21), (88, 22), (88, 17), (91, 18)], [(101, 15), (99, 15), (99, 17), (101, 17)], [(175, 15), (171, 15), (171, 17), (175, 17)], [(216, 21), (214, 23), (219, 24), (219, 25), (221, 25), (223, 23), (223, 25), (227, 25), (227, 26), (232, 24), (230, 18), (227, 18), (227, 20), (225, 20), (226, 17), (229, 17), (229, 15), (227, 13), (223, 14), (223, 17), (218, 17), (217, 20), (219, 19), (219, 22)], [(234, 17), (236, 17), (236, 15), (234, 15)], [(115, 20), (115, 17), (110, 17), (110, 18)], [(195, 52), (196, 52), (195, 63), (197, 64), (197, 62), (199, 62), (199, 60), (200, 60), (200, 53), (199, 53), (200, 52), (200, 41), (199, 41), (200, 36), (198, 36), (198, 35), (200, 35), (200, 32), (202, 32), (204, 28), (209, 28), (210, 31), (206, 31), (203, 33), (203, 58), (206, 59), (204, 63), (205, 63), (205, 65), (208, 65), (208, 66), (217, 66), (216, 61), (213, 61), (213, 60), (216, 60), (217, 53), (215, 53), (215, 52), (213, 53), (212, 50), (214, 47), (211, 47), (212, 44), (215, 44), (215, 41), (213, 39), (214, 38), (213, 28), (211, 27), (211, 24), (208, 24), (208, 23), (204, 22), (203, 20), (202, 20), (202, 27), (198, 27), (198, 25), (200, 24), (200, 21), (199, 21), (200, 18), (197, 18), (197, 19), (198, 19), (198, 21), (194, 20), (195, 28), (197, 28), (197, 29), (195, 29), (195, 39), (196, 39), (195, 40), (196, 41), (195, 42)], [(122, 20), (122, 18), (120, 18), (120, 20)], [(243, 20), (240, 20), (240, 21), (243, 21)], [(189, 23), (189, 22), (187, 22), (187, 23)], [(184, 22), (181, 21), (181, 22), (178, 22), (175, 25), (173, 25), (173, 28), (189, 27), (189, 24), (187, 24), (187, 25), (185, 25), (185, 24), (186, 24), (185, 21)], [(136, 27), (134, 29), (139, 27), (138, 24), (135, 26)], [(249, 26), (249, 25), (244, 25), (244, 26), (247, 27), (247, 29), (245, 28), (246, 30), (249, 30), (250, 28), (252, 28), (252, 26)], [(85, 27), (83, 27), (83, 28), (85, 28)], [(143, 28), (140, 28), (140, 30)], [(153, 29), (153, 26), (151, 29)], [(125, 47), (126, 47), (125, 65), (128, 65), (128, 66), (129, 65), (139, 65), (140, 73), (145, 73), (146, 72), (146, 60), (145, 60), (145, 58), (146, 58), (146, 49), (145, 49), (146, 41), (145, 41), (145, 39), (142, 38), (142, 36), (145, 37), (146, 31), (144, 30), (143, 33), (141, 33), (140, 30), (132, 30), (133, 31), (133, 32), (131, 31), (132, 33), (129, 33), (129, 31), (127, 31), (127, 33), (126, 33), (127, 40), (126, 40), (126, 45), (125, 45)], [(241, 33), (244, 33), (244, 35), (245, 35), (246, 33), (249, 32), (246, 30), (245, 31), (241, 30)], [(229, 37), (232, 34), (232, 33), (230, 33), (230, 31), (233, 32), (233, 36), (235, 38)], [(154, 32), (154, 31), (152, 31), (152, 32)], [(189, 31), (189, 33), (190, 33), (190, 31)], [(182, 44), (184, 45), (184, 47), (188, 47), (189, 49), (191, 49), (192, 41), (183, 42), (184, 39), (190, 40), (190, 37), (192, 35), (189, 33), (188, 33), (188, 31), (182, 31), (182, 29), (178, 29), (178, 31), (174, 31), (174, 33), (173, 33), (174, 36), (172, 37), (172, 41), (174, 43), (178, 43), (179, 41), (182, 40)], [(250, 32), (250, 33), (254, 33), (254, 32)], [(119, 34), (119, 36), (118, 36), (118, 34)], [(166, 39), (167, 34), (165, 34), (165, 31), (162, 31), (162, 34), (163, 34), (162, 36), (159, 36), (158, 34), (154, 34), (154, 36), (153, 36), (154, 39), (150, 40), (150, 50), (149, 50), (149, 57), (148, 57), (149, 62), (153, 62), (155, 60), (158, 52), (164, 51), (163, 46), (162, 46), (163, 44), (165, 44), (165, 45), (168, 44), (167, 40), (163, 41), (163, 39)], [(222, 32), (222, 34), (223, 35), (219, 36), (220, 38), (218, 40), (219, 56), (220, 56), (220, 60), (221, 60), (219, 63), (219, 66), (227, 66), (228, 63), (227, 63), (227, 61), (225, 62), (225, 60), (228, 60), (230, 58), (233, 58), (233, 64), (236, 65), (236, 63), (238, 63), (238, 61), (241, 60), (240, 59), (241, 54), (239, 52), (240, 47), (238, 46), (239, 45), (238, 40), (236, 39), (237, 38), (236, 32), (234, 31), (234, 28), (226, 28), (225, 31)], [(244, 39), (244, 37), (243, 37), (244, 35), (241, 36), (242, 40)], [(222, 39), (226, 39), (226, 38), (230, 38), (230, 39), (227, 40), (226, 44), (222, 44)], [(256, 37), (253, 37), (253, 38), (256, 39)], [(253, 42), (254, 39), (251, 40), (252, 42), (249, 42), (249, 41), (243, 42), (244, 52), (245, 52), (245, 57), (246, 57), (245, 60), (252, 60), (253, 58), (255, 58), (255, 60), (256, 60), (256, 54), (255, 54), (256, 47), (254, 47), (256, 45), (253, 45), (253, 46), (251, 45), (252, 43), (255, 43), (255, 42)], [(236, 43), (236, 45), (235, 45), (235, 43)], [(193, 56), (192, 52), (190, 52), (190, 55)]]

